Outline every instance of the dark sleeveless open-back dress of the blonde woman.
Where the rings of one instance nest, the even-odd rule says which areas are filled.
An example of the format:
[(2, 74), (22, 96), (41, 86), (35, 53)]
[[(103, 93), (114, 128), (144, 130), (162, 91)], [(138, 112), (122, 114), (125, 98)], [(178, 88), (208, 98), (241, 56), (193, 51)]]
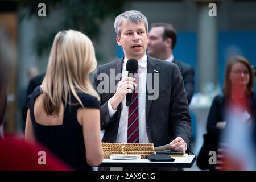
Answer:
[[(63, 100), (63, 125), (44, 126), (36, 123), (34, 104), (36, 97), (42, 94), (40, 86), (28, 96), (28, 107), (36, 139), (49, 150), (76, 170), (92, 170), (86, 162), (85, 143), (82, 126), (77, 121), (77, 110), (82, 108), (76, 98), (71, 95), (71, 105)], [(96, 97), (85, 93), (77, 93), (84, 107), (100, 109)], [(74, 105), (73, 103), (77, 103)]]

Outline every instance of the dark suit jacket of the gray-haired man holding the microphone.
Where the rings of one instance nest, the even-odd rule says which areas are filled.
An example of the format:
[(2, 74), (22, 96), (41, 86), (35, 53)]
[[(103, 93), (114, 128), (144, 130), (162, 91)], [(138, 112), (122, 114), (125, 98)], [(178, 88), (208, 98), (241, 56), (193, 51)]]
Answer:
[[(116, 142), (121, 116), (121, 104), (119, 104), (113, 118), (110, 118), (108, 100), (114, 95), (114, 93), (110, 93), (110, 84), (112, 82), (112, 84), (117, 85), (119, 80), (115, 80), (114, 77), (103, 79), (104, 81), (109, 81), (109, 93), (102, 93), (104, 86), (99, 85), (101, 80), (97, 80), (97, 77), (100, 73), (106, 73), (106, 75), (110, 76), (110, 69), (114, 69), (112, 72), (115, 75), (121, 73), (122, 63), (123, 58), (101, 65), (94, 77), (93, 85), (97, 92), (100, 93), (101, 98), (101, 129), (105, 129), (102, 142)], [(146, 131), (149, 142), (154, 143), (154, 146), (162, 146), (170, 143), (176, 137), (181, 137), (189, 146), (191, 140), (191, 118), (179, 68), (176, 64), (148, 56), (147, 73), (157, 72), (159, 73), (159, 97), (156, 100), (148, 100), (150, 93), (148, 93), (148, 90), (146, 92)], [(157, 84), (157, 81), (153, 79), (152, 88)]]

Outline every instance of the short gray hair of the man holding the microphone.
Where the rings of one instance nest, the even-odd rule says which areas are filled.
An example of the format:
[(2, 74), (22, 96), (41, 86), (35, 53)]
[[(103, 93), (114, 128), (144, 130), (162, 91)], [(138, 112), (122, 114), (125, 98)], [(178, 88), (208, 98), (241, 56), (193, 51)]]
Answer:
[(121, 35), (121, 26), (122, 26), (123, 20), (125, 19), (128, 22), (144, 23), (146, 32), (148, 32), (148, 22), (147, 22), (146, 16), (144, 16), (139, 11), (131, 10), (131, 11), (125, 11), (122, 14), (118, 15), (117, 18), (115, 18), (114, 28), (115, 28), (115, 33), (117, 33), (117, 36)]

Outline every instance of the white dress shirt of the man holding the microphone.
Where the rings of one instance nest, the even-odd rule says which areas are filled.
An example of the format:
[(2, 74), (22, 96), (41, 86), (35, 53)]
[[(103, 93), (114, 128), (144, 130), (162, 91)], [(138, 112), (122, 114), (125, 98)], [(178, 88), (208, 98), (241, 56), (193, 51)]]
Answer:
[[(122, 78), (128, 76), (126, 70), (127, 57), (123, 60)], [(139, 143), (148, 143), (146, 132), (146, 86), (147, 86), (147, 55), (145, 54), (138, 60), (139, 64)], [(113, 117), (117, 110), (114, 110), (108, 101), (108, 109), (110, 117)], [(127, 143), (127, 127), (128, 127), (128, 110), (126, 106), (126, 97), (122, 101), (121, 117), (119, 122), (117, 143)]]

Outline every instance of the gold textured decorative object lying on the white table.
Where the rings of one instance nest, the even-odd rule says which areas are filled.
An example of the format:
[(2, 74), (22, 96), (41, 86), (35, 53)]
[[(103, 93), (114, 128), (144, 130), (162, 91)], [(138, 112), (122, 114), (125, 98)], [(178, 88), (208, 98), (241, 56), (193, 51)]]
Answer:
[(146, 158), (147, 155), (155, 154), (153, 143), (105, 143), (102, 142), (102, 148), (105, 152), (104, 158), (110, 155), (141, 155)]

